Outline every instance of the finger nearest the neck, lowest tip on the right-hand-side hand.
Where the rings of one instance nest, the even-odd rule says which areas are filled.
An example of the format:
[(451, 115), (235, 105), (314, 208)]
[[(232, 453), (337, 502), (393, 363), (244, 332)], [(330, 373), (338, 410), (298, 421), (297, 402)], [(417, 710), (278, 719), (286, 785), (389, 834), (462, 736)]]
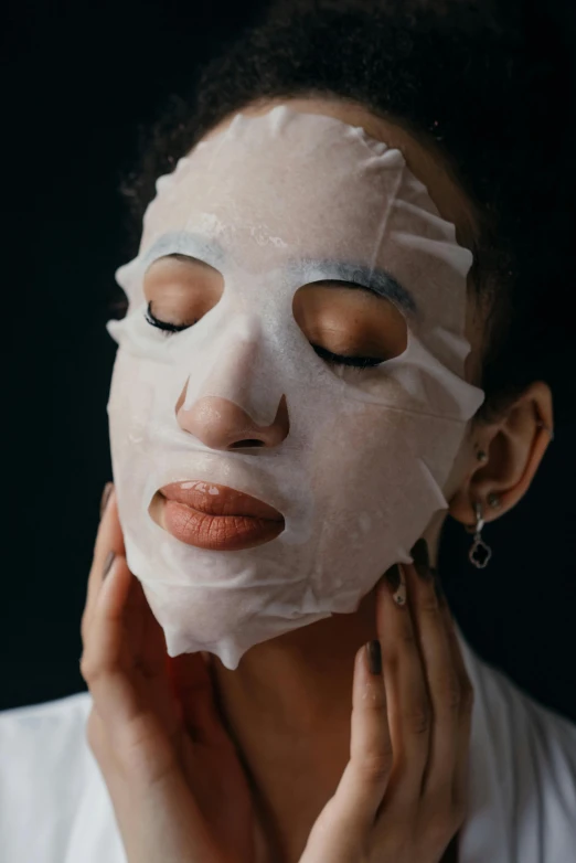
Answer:
[(350, 761), (331, 802), (334, 830), (356, 835), (374, 823), (393, 763), (378, 642), (371, 648), (364, 644), (355, 657)]

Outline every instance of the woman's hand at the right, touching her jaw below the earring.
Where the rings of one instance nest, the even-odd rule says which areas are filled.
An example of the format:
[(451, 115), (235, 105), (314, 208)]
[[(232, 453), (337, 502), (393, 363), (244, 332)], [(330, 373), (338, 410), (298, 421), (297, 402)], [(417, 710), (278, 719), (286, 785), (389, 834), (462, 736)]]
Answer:
[(378, 584), (383, 673), (362, 647), (350, 761), (300, 863), (439, 863), (465, 819), (473, 690), (423, 543), (422, 575), (397, 565)]

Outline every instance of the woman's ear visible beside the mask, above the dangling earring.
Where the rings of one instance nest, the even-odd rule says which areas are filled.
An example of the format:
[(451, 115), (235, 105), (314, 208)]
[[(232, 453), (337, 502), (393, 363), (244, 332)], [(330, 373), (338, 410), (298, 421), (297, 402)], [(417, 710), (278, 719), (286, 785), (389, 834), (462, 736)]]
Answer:
[(481, 425), (473, 435), (476, 452), (470, 470), (450, 501), (449, 513), (473, 525), (473, 504), (479, 501), (486, 521), (508, 512), (530, 488), (552, 438), (553, 411), (550, 386), (531, 384), (494, 423)]

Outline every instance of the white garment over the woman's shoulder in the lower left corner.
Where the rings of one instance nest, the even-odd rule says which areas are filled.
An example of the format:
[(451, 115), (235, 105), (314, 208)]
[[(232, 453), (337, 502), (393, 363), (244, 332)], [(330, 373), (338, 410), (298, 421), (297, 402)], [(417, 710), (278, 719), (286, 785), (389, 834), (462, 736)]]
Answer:
[(106, 787), (86, 741), (90, 707), (90, 694), (81, 692), (0, 712), (3, 863), (122, 861)]

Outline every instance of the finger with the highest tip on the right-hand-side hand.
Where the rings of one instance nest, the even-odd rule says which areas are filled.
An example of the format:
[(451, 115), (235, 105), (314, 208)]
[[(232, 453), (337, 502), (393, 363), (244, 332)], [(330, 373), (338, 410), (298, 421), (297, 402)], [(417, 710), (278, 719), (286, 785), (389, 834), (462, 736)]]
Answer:
[(433, 714), (422, 793), (436, 803), (441, 799), (450, 803), (457, 760), (460, 680), (448, 640), (446, 617), (435, 589), (435, 573), (430, 568), (426, 541), (418, 540), (412, 554), (415, 565), (405, 568)]

